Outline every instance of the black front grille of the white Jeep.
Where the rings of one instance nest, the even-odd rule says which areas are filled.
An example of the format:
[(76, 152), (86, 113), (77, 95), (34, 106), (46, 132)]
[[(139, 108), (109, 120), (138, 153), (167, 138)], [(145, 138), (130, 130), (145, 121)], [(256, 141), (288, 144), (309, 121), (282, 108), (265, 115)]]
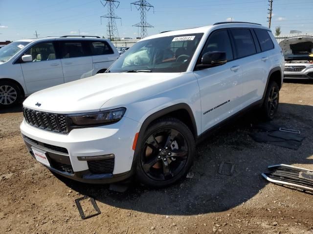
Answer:
[(56, 133), (67, 133), (67, 116), (23, 108), (26, 122), (33, 127)]

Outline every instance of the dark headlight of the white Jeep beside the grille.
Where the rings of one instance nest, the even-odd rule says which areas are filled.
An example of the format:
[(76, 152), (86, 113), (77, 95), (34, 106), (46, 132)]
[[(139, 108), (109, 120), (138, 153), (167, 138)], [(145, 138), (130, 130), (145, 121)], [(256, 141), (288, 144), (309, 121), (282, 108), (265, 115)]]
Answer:
[(67, 115), (67, 118), (72, 126), (110, 124), (119, 121), (124, 116), (125, 111), (126, 108), (121, 107), (108, 111)]

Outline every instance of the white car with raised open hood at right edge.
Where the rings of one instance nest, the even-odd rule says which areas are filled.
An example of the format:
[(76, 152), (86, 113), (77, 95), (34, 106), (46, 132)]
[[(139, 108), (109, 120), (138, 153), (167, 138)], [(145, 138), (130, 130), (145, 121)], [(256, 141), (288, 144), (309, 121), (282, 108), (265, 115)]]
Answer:
[(285, 56), (284, 79), (313, 79), (313, 36), (279, 42)]

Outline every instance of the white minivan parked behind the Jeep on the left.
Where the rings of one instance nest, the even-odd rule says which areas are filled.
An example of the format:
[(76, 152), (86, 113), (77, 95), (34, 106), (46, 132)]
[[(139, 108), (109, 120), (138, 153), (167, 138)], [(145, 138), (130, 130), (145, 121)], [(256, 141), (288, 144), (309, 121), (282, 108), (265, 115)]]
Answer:
[(103, 73), (118, 58), (111, 41), (99, 37), (11, 42), (0, 49), (0, 108), (36, 91)]

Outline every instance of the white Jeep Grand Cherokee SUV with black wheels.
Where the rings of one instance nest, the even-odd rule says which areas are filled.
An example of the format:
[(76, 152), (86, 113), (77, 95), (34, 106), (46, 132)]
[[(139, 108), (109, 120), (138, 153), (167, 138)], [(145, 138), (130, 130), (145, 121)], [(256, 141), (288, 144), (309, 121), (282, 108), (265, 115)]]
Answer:
[(49, 170), (87, 183), (136, 175), (168, 186), (188, 172), (195, 142), (231, 117), (277, 111), (281, 48), (267, 27), (231, 22), (141, 39), (105, 74), (23, 102), (22, 136)]

